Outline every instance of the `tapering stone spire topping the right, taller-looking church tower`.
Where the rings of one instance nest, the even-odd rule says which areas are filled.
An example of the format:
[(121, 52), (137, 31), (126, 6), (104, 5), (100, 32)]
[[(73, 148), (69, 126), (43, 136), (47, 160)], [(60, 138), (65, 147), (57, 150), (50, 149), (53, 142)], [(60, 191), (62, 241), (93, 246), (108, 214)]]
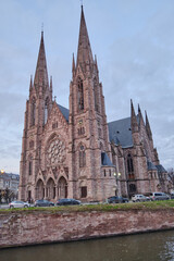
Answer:
[(83, 10), (83, 5), (82, 5), (76, 65), (83, 64), (83, 63), (89, 63), (89, 64), (94, 63), (94, 58), (92, 58), (88, 32), (87, 32), (87, 27), (86, 27), (84, 10)]

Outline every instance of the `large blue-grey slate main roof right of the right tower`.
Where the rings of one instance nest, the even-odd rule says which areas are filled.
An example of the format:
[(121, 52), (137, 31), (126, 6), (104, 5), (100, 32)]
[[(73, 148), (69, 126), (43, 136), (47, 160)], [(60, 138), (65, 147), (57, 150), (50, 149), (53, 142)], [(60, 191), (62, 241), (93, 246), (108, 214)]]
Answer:
[(130, 117), (108, 123), (110, 141), (122, 148), (133, 147)]

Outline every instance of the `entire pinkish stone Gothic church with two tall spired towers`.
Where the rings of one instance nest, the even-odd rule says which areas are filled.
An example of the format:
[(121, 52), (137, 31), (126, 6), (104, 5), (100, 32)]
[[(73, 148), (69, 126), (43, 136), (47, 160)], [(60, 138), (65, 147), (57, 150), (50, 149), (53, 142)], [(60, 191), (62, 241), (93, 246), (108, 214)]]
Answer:
[(104, 201), (113, 195), (166, 191), (166, 171), (153, 147), (148, 116), (107, 122), (102, 84), (82, 7), (77, 59), (73, 55), (69, 110), (52, 99), (44, 33), (30, 78), (23, 132), (20, 199)]

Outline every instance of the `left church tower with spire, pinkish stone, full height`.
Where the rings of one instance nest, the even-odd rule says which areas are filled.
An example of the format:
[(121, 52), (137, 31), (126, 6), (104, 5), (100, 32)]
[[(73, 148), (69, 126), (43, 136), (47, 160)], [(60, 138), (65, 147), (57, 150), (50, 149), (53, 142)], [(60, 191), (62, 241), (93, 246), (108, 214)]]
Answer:
[(20, 199), (34, 198), (35, 177), (40, 162), (41, 135), (52, 108), (52, 79), (48, 80), (47, 61), (44, 42), (41, 40), (35, 79), (30, 77), (29, 99), (26, 101), (25, 123), (21, 154)]

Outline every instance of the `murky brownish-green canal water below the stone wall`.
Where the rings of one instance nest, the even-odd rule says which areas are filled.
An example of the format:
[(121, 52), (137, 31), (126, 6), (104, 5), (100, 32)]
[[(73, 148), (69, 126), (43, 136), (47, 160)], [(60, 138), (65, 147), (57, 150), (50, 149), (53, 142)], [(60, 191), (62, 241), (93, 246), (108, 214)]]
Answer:
[(174, 261), (174, 231), (1, 249), (0, 261)]

